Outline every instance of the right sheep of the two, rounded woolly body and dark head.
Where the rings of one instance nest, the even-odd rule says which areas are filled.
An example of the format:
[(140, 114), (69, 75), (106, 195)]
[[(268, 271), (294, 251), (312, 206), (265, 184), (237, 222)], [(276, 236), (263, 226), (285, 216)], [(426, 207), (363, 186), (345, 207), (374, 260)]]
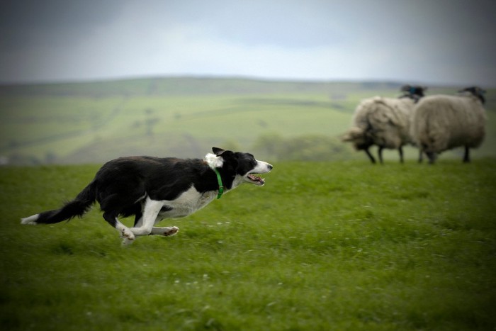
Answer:
[(411, 135), (422, 153), (434, 164), (439, 153), (465, 147), (463, 162), (470, 162), (470, 148), (479, 147), (485, 136), (485, 91), (478, 86), (458, 91), (458, 96), (426, 96), (415, 106)]

